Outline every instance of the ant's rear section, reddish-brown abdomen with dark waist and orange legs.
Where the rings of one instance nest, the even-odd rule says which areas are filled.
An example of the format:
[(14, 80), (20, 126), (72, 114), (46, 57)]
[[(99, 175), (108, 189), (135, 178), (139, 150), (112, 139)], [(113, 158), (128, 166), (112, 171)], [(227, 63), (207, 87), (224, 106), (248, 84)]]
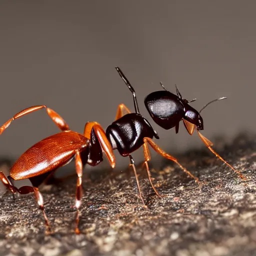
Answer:
[[(51, 108), (45, 105), (31, 106), (16, 113), (0, 127), (0, 134), (9, 124), (28, 113), (45, 108), (52, 121), (60, 128), (61, 132), (46, 137), (30, 148), (28, 148), (12, 165), (10, 173), (5, 176), (0, 171), (2, 183), (12, 192), (27, 194), (34, 192), (35, 200), (42, 210), (47, 231), (50, 231), (49, 221), (44, 212), (43, 197), (39, 192), (38, 186), (54, 171), (75, 159), (75, 169), (77, 174), (75, 208), (76, 208), (76, 227), (75, 232), (80, 233), (79, 208), (82, 198), (82, 169), (87, 163), (91, 166), (100, 163), (102, 152), (105, 152), (112, 168), (115, 166), (115, 157), (112, 147), (106, 138), (103, 128), (97, 122), (86, 122), (83, 134), (72, 131), (64, 119)], [(28, 178), (32, 186), (21, 186), (17, 188), (12, 180)]]

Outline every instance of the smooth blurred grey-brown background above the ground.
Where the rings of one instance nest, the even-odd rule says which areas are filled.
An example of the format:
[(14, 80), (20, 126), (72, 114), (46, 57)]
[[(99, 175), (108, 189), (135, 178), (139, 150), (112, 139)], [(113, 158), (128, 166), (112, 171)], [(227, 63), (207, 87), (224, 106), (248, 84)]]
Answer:
[[(118, 65), (136, 90), (141, 114), (160, 135), (157, 143), (174, 155), (203, 144), (183, 125), (176, 135), (152, 122), (143, 99), (160, 89), (160, 80), (172, 92), (176, 83), (184, 97), (196, 97), (198, 110), (228, 97), (202, 112), (209, 139), (254, 130), (255, 9), (253, 0), (2, 0), (0, 123), (46, 104), (78, 132), (88, 120), (106, 128), (119, 103), (133, 109)], [(58, 131), (45, 110), (26, 115), (0, 136), (0, 155), (18, 157)], [(141, 156), (142, 150), (135, 154)]]

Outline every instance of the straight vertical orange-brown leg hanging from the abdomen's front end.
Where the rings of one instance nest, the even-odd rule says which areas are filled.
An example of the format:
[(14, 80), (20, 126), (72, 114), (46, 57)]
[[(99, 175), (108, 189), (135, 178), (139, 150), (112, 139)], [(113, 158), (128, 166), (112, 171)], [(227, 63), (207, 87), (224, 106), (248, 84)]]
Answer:
[(81, 199), (82, 199), (82, 160), (80, 156), (80, 152), (75, 152), (75, 169), (77, 174), (77, 181), (76, 181), (76, 193), (75, 193), (75, 207), (76, 207), (76, 226), (75, 226), (75, 233), (79, 234), (79, 208), (81, 206)]

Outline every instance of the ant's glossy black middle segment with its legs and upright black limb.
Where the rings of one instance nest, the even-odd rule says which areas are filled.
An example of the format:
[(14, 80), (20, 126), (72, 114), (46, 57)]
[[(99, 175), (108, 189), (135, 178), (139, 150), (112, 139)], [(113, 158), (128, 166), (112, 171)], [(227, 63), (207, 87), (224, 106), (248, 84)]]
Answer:
[(151, 181), (149, 167), (148, 167), (148, 161), (150, 160), (150, 152), (149, 152), (149, 147), (148, 147), (149, 145), (163, 157), (177, 163), (179, 165), (179, 167), (184, 172), (186, 172), (188, 175), (190, 175), (192, 178), (194, 178), (196, 182), (199, 183), (198, 178), (193, 176), (186, 168), (184, 168), (177, 161), (176, 158), (174, 158), (173, 156), (164, 152), (161, 148), (159, 148), (157, 146), (157, 144), (155, 144), (153, 142), (152, 138), (155, 137), (158, 139), (159, 138), (158, 134), (152, 128), (149, 121), (147, 119), (145, 119), (139, 113), (136, 94), (135, 94), (135, 91), (134, 91), (133, 87), (131, 86), (130, 82), (125, 77), (125, 75), (123, 74), (123, 72), (121, 71), (121, 69), (119, 67), (115, 67), (115, 69), (132, 93), (135, 113), (134, 112), (132, 113), (124, 104), (119, 104), (117, 107), (115, 121), (112, 122), (112, 124), (110, 124), (106, 128), (106, 136), (107, 136), (108, 140), (110, 141), (113, 149), (117, 149), (118, 152), (122, 156), (129, 156), (130, 165), (133, 168), (134, 175), (136, 178), (139, 197), (140, 197), (143, 205), (145, 206), (145, 203), (141, 196), (141, 191), (140, 191), (140, 187), (139, 187), (136, 168), (135, 168), (133, 158), (131, 156), (131, 153), (133, 151), (137, 150), (140, 146), (143, 146), (144, 164), (146, 166), (146, 171), (147, 171), (147, 175), (148, 175), (150, 184), (151, 184), (154, 192), (158, 196), (159, 196), (159, 194)]

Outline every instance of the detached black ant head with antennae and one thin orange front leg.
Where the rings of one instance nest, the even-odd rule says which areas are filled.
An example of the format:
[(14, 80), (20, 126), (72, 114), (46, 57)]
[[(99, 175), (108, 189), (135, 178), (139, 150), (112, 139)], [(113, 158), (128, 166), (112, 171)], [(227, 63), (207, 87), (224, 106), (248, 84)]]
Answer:
[(176, 133), (178, 133), (179, 121), (181, 120), (183, 121), (183, 124), (190, 135), (193, 134), (194, 129), (196, 128), (200, 139), (209, 148), (209, 150), (215, 154), (216, 157), (227, 164), (234, 172), (238, 173), (240, 178), (246, 179), (240, 171), (235, 170), (227, 161), (216, 153), (211, 147), (213, 145), (212, 142), (199, 132), (199, 130), (203, 130), (203, 120), (200, 115), (201, 111), (210, 103), (225, 99), (226, 97), (219, 97), (211, 100), (198, 112), (188, 104), (195, 101), (196, 98), (188, 101), (181, 96), (181, 93), (176, 85), (175, 87), (177, 95), (168, 91), (163, 86), (162, 82), (160, 82), (160, 85), (162, 86), (163, 90), (151, 92), (144, 98), (145, 107), (154, 122), (164, 129), (175, 127)]

